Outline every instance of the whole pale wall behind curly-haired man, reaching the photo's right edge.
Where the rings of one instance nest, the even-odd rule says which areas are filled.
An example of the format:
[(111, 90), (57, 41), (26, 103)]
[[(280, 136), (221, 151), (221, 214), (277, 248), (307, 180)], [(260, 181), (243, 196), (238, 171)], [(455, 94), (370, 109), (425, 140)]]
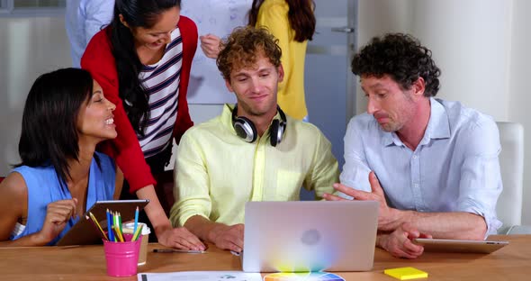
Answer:
[[(374, 35), (409, 32), (433, 51), (442, 69), (437, 96), (458, 100), (496, 121), (521, 122), (531, 148), (531, 2), (526, 0), (360, 0), (359, 46)], [(363, 93), (358, 87), (358, 93)], [(365, 112), (364, 95), (356, 97)], [(531, 149), (526, 150), (525, 175)], [(526, 172), (529, 171), (529, 172)], [(524, 177), (523, 223), (531, 224), (531, 176)]]

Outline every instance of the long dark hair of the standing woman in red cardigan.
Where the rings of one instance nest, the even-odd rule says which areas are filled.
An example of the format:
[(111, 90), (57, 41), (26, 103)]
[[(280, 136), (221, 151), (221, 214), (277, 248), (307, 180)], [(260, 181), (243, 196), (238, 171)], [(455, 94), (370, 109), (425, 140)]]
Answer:
[(144, 135), (149, 119), (148, 94), (140, 85), (139, 72), (142, 63), (135, 50), (130, 29), (121, 23), (120, 14), (130, 28), (150, 28), (157, 23), (158, 15), (173, 7), (180, 7), (180, 0), (116, 0), (111, 28), (112, 55), (116, 61), (120, 98), (133, 129)]

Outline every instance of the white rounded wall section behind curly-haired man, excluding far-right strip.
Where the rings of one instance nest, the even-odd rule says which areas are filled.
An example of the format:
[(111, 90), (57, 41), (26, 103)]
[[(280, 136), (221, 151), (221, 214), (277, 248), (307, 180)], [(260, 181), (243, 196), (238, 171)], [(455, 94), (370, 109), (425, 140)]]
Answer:
[[(509, 95), (500, 94), (509, 89), (511, 3), (363, 0), (358, 12), (359, 46), (385, 32), (413, 34), (433, 51), (442, 69), (438, 96), (506, 121)], [(358, 95), (357, 102), (358, 113), (365, 112), (365, 97)]]

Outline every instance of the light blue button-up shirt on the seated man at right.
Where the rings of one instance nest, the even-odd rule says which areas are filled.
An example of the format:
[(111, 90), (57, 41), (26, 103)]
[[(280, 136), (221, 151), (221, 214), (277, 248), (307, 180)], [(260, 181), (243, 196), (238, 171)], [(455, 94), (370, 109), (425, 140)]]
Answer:
[(457, 102), (430, 98), (430, 104), (428, 127), (415, 151), (395, 132), (383, 131), (373, 115), (355, 116), (345, 135), (341, 183), (370, 192), (374, 170), (390, 206), (476, 213), (487, 222), (487, 234), (496, 233), (502, 189), (496, 122)]

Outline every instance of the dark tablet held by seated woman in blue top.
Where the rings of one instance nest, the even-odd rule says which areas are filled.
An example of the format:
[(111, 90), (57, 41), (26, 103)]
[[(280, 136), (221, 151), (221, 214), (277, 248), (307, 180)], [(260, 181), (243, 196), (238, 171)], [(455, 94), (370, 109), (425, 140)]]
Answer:
[[(93, 213), (103, 230), (107, 229), (107, 209), (121, 214), (121, 222), (127, 222), (135, 217), (137, 206), (142, 210), (149, 203), (147, 199), (97, 201), (85, 214)], [(99, 233), (94, 230), (92, 222), (86, 220), (85, 215), (63, 236), (56, 246), (90, 245), (101, 243)]]

